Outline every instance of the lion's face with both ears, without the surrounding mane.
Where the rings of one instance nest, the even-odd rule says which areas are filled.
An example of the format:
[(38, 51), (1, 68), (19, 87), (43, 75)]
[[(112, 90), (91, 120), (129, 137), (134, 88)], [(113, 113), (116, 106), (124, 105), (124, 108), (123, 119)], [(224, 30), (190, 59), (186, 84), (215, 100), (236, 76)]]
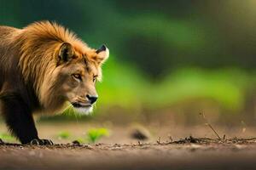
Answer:
[(69, 101), (79, 113), (92, 111), (98, 99), (96, 82), (102, 78), (102, 63), (108, 59), (108, 48), (90, 49), (84, 53), (64, 42), (56, 54), (59, 74), (55, 84), (61, 96)]

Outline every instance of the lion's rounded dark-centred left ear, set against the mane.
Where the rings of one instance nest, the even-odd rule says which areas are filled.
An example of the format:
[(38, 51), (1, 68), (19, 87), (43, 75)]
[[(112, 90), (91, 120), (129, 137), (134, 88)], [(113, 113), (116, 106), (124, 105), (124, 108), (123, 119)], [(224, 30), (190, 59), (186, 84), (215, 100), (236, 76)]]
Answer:
[(61, 48), (59, 49), (59, 59), (61, 59), (61, 61), (67, 62), (68, 60), (72, 59), (74, 54), (73, 51), (73, 46), (68, 43), (68, 42), (64, 42), (61, 44)]

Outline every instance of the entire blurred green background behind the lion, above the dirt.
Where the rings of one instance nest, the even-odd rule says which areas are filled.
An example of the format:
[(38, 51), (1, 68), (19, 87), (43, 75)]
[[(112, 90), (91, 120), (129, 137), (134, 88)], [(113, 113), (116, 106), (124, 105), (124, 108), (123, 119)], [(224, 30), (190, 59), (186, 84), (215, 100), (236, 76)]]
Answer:
[(110, 49), (90, 119), (255, 123), (254, 0), (0, 0), (1, 25), (38, 20)]

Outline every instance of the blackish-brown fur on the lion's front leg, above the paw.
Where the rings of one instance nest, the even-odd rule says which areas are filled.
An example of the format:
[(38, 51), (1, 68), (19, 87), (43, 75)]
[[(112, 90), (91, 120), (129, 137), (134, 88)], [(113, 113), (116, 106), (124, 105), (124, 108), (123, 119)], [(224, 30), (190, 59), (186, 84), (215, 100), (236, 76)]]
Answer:
[(32, 139), (38, 139), (32, 111), (20, 97), (20, 94), (1, 94), (0, 99), (5, 122), (10, 132), (20, 139), (21, 144), (28, 144)]

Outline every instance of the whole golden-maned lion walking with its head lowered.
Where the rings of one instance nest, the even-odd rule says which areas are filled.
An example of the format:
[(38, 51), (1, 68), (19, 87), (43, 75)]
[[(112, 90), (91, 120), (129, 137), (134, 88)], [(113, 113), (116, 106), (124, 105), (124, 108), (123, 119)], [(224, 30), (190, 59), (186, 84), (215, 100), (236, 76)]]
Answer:
[(67, 103), (92, 111), (108, 55), (105, 45), (90, 48), (55, 22), (0, 26), (0, 108), (10, 133), (21, 144), (52, 144), (38, 138), (33, 115), (52, 115)]

